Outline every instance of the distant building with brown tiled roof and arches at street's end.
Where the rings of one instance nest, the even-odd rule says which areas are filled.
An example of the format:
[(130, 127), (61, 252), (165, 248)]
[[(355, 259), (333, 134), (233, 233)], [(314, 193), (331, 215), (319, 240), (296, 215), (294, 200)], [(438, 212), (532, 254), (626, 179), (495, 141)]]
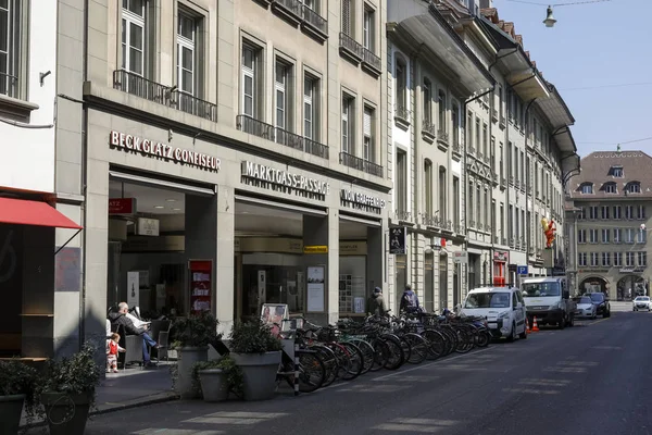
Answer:
[(577, 289), (629, 300), (650, 290), (652, 157), (643, 151), (599, 151), (581, 159), (568, 183), (567, 222), (576, 254)]

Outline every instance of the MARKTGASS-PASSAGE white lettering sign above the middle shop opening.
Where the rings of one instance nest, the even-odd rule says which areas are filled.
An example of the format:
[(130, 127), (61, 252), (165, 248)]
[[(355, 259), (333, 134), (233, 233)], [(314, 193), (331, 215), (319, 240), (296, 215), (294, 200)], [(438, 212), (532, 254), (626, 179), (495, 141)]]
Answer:
[(248, 161), (241, 163), (241, 176), (246, 181), (253, 182), (258, 187), (306, 198), (324, 197), (330, 191), (330, 185), (326, 181)]

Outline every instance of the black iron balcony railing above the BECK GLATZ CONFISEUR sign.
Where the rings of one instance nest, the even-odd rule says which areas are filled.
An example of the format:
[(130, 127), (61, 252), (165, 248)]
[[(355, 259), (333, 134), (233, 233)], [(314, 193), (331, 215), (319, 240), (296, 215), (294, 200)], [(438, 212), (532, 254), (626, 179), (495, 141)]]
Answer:
[(217, 122), (217, 105), (199, 99), (190, 94), (149, 80), (125, 70), (113, 72), (113, 87), (123, 92), (167, 105), (191, 115)]

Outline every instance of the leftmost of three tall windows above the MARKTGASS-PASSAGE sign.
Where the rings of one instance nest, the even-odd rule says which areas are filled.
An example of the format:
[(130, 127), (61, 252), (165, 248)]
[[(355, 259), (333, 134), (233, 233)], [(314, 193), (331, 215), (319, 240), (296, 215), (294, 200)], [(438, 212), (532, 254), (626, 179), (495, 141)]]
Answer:
[(246, 41), (242, 44), (240, 110), (242, 114), (256, 120), (261, 119), (263, 113), (260, 103), (263, 86), (262, 69), (260, 67), (262, 64), (261, 57), (262, 49)]

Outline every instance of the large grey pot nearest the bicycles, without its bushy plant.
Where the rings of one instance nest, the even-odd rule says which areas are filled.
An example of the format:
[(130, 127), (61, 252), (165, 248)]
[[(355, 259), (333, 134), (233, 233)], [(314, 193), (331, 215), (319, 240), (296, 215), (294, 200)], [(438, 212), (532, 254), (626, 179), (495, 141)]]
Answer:
[(242, 369), (244, 400), (267, 400), (276, 390), (276, 372), (280, 364), (280, 350), (266, 353), (231, 353)]

